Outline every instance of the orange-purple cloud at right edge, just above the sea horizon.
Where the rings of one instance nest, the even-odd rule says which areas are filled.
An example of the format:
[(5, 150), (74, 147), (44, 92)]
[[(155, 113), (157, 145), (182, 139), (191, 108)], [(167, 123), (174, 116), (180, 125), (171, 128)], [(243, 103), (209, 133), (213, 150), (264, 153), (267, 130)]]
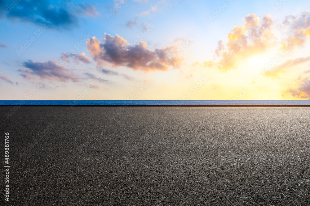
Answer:
[(298, 86), (295, 88), (289, 87), (282, 91), (282, 97), (290, 95), (294, 98), (310, 100), (310, 76), (299, 80), (295, 84)]

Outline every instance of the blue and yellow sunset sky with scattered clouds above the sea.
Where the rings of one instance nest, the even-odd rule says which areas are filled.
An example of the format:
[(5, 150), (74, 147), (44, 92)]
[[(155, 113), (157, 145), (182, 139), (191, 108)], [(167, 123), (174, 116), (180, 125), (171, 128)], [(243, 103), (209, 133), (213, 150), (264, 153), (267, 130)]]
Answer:
[(0, 0), (0, 100), (310, 99), (308, 0)]

